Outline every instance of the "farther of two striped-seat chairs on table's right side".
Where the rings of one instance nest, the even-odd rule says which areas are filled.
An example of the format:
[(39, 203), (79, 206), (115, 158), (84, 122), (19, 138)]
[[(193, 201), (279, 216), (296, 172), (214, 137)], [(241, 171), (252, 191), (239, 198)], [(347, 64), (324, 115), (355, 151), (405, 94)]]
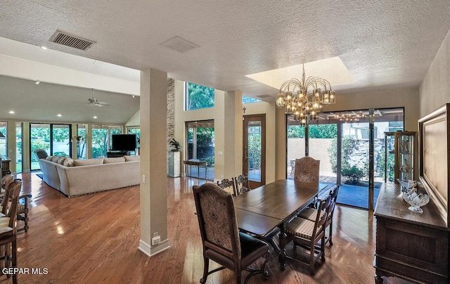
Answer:
[[(339, 186), (336, 184), (332, 186), (328, 191), (325, 193), (319, 195), (319, 200), (326, 200), (326, 198), (331, 197), (331, 204), (328, 207), (328, 217), (325, 223), (324, 230), (326, 231), (326, 228), (328, 228), (328, 235), (325, 235), (325, 244), (330, 243), (330, 246), (333, 245), (333, 214), (335, 211), (336, 206), (336, 200), (338, 199), (338, 192), (339, 192)], [(302, 211), (300, 211), (299, 214), (297, 214), (297, 217), (308, 219), (310, 221), (314, 221), (314, 218), (316, 217), (317, 209), (314, 209), (312, 207), (306, 207)]]

